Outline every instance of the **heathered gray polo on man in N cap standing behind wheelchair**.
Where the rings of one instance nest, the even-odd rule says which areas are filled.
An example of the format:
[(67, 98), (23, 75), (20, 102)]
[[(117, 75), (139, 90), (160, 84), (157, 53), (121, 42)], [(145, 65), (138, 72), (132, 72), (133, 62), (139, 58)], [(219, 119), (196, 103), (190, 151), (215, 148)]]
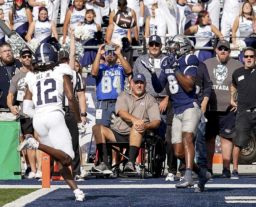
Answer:
[(141, 60), (143, 60), (145, 63), (149, 63), (149, 58), (151, 58), (153, 67), (156, 71), (157, 77), (159, 77), (162, 69), (160, 67), (160, 62), (161, 60), (166, 57), (166, 55), (162, 54), (158, 58), (151, 58), (149, 54), (139, 56), (133, 66), (133, 74), (137, 73), (142, 73), (146, 77), (146, 82), (147, 82), (147, 93), (151, 94), (154, 96), (154, 98), (159, 98), (159, 97), (165, 97), (166, 96), (166, 90), (164, 90), (161, 93), (156, 93), (151, 82), (151, 74), (147, 71), (147, 69), (141, 64)]

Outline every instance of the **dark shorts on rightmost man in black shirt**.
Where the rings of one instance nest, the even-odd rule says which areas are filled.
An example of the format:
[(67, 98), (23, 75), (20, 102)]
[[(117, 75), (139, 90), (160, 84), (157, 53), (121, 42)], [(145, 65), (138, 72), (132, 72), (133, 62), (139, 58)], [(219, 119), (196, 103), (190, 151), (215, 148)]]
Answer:
[(236, 136), (233, 144), (239, 147), (246, 147), (249, 143), (251, 130), (256, 134), (256, 112), (237, 112), (236, 119)]

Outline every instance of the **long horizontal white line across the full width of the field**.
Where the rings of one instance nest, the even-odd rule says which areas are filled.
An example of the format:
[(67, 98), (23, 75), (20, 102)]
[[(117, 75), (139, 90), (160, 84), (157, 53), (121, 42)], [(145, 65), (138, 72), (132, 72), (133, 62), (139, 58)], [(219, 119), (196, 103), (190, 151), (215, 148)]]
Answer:
[[(197, 185), (194, 185), (196, 188)], [(206, 188), (256, 188), (256, 184), (208, 184)], [(42, 185), (0, 185), (0, 188), (42, 188)], [(51, 188), (70, 188), (68, 185), (51, 185)], [(80, 189), (128, 189), (128, 188), (175, 188), (175, 184), (131, 184), (131, 185), (78, 185)]]

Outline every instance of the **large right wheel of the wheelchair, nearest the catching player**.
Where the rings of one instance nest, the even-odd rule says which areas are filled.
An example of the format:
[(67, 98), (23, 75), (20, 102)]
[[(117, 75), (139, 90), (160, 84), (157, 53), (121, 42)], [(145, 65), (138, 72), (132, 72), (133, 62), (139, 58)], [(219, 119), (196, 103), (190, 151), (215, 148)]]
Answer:
[(150, 172), (154, 178), (161, 178), (165, 170), (165, 146), (159, 136), (154, 136), (150, 147)]

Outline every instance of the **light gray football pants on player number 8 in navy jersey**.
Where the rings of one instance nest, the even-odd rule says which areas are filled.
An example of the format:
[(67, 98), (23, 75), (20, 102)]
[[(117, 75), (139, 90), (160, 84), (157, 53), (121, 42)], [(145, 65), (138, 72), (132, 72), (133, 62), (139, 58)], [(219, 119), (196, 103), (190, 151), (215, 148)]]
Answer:
[(172, 144), (181, 143), (183, 132), (189, 132), (196, 135), (198, 124), (201, 120), (201, 108), (193, 103), (194, 107), (186, 109), (182, 114), (174, 114), (172, 120)]

